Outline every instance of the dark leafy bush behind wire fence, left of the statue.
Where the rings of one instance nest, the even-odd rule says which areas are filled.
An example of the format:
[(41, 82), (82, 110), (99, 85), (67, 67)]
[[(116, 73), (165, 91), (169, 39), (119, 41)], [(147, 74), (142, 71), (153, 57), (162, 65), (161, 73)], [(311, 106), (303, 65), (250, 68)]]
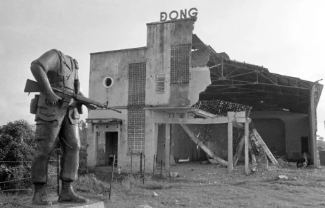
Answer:
[(35, 125), (19, 120), (0, 126), (0, 189), (26, 189), (30, 180), (16, 180), (30, 177), (30, 161), (35, 154)]

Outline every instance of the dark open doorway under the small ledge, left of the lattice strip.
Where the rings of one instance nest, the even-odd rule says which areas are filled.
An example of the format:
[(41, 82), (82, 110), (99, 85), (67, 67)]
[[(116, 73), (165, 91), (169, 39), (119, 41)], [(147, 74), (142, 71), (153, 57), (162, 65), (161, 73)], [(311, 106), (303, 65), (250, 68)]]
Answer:
[[(113, 155), (115, 155), (115, 159), (118, 159), (118, 132), (105, 132), (105, 165), (111, 166), (113, 165)], [(115, 161), (117, 164), (118, 161)]]

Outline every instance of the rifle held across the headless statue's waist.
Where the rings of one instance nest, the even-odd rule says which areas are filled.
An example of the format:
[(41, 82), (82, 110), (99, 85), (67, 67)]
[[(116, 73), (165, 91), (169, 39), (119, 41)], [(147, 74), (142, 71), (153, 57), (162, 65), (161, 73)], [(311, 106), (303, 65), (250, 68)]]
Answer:
[[(93, 101), (89, 98), (86, 98), (85, 96), (82, 96), (80, 94), (75, 94), (73, 89), (67, 90), (65, 88), (59, 89), (57, 87), (52, 87), (53, 92), (55, 92), (57, 94), (57, 96), (59, 96), (60, 98), (63, 99), (64, 102), (69, 102), (71, 100), (71, 98), (75, 99), (75, 101), (78, 101), (82, 104), (93, 104), (96, 105), (97, 107), (101, 107), (101, 108), (105, 108), (107, 110), (113, 110), (115, 112), (120, 112), (120, 110), (115, 110), (111, 107), (107, 107), (107, 105), (109, 105), (109, 102), (107, 101), (106, 103), (102, 104), (99, 103), (97, 101)], [(33, 81), (33, 80), (27, 80), (26, 81), (26, 86), (24, 89), (24, 92), (44, 92), (43, 89), (41, 89), (41, 87), (39, 87), (39, 85), (37, 84), (37, 82)]]

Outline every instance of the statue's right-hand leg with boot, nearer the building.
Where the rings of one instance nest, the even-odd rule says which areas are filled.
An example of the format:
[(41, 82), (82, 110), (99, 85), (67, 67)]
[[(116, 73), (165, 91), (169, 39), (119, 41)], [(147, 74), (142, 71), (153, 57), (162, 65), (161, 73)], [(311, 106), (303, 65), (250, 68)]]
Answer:
[(72, 187), (72, 183), (77, 180), (79, 166), (80, 137), (78, 123), (71, 124), (68, 116), (66, 116), (59, 137), (63, 147), (62, 171), (59, 176), (62, 180), (62, 190), (59, 195), (59, 202), (89, 202), (88, 199), (78, 196)]

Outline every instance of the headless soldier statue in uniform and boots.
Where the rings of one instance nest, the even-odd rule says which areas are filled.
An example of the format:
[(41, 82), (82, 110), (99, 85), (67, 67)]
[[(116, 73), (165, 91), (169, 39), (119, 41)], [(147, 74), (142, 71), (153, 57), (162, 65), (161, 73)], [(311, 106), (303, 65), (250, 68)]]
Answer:
[[(37, 153), (32, 161), (32, 183), (35, 186), (32, 202), (48, 205), (46, 182), (48, 180), (48, 161), (57, 141), (63, 148), (61, 173), (62, 189), (59, 202), (86, 203), (88, 199), (73, 191), (72, 183), (77, 179), (79, 166), (80, 137), (78, 123), (82, 113), (82, 104), (73, 99), (60, 98), (51, 87), (79, 92), (77, 60), (55, 49), (47, 51), (30, 67), (32, 75), (44, 92), (35, 96), (35, 121)], [(86, 105), (95, 109), (95, 105)], [(32, 105), (31, 105), (32, 108)], [(31, 110), (32, 112), (32, 110)]]

